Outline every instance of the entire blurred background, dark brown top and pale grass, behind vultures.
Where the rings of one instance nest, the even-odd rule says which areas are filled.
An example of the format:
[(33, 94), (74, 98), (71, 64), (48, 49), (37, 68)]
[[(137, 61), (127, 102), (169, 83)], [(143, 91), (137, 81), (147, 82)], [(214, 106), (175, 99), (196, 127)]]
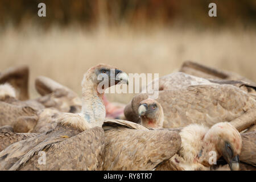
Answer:
[[(81, 95), (82, 75), (98, 63), (164, 76), (192, 60), (256, 81), (255, 58), (255, 0), (0, 1), (0, 72), (29, 65), (32, 98), (39, 75)], [(133, 94), (107, 97), (126, 104)]]

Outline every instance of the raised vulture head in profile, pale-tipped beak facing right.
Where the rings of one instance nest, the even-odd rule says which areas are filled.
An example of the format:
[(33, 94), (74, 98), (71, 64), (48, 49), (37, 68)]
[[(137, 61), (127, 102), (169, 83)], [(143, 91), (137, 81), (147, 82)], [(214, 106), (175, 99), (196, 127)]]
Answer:
[(117, 84), (128, 84), (128, 75), (121, 70), (106, 64), (98, 64), (90, 68), (84, 75), (82, 87), (85, 88), (88, 81), (97, 86), (97, 92), (104, 94), (104, 90)]

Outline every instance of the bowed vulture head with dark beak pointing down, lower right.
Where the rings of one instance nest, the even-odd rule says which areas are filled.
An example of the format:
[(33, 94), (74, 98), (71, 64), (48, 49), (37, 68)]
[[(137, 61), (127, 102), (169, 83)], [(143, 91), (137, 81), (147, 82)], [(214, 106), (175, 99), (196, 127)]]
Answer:
[(211, 127), (205, 139), (216, 144), (218, 154), (226, 160), (231, 170), (239, 170), (242, 138), (235, 127), (228, 122), (217, 123)]

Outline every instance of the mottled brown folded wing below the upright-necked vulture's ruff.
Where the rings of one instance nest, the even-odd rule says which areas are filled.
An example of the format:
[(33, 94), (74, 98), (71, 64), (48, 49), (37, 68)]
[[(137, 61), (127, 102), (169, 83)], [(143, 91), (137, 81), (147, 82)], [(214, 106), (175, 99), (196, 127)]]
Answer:
[(101, 170), (104, 131), (100, 127), (86, 130), (63, 142), (44, 148), (46, 164), (38, 164), (34, 155), (21, 170)]

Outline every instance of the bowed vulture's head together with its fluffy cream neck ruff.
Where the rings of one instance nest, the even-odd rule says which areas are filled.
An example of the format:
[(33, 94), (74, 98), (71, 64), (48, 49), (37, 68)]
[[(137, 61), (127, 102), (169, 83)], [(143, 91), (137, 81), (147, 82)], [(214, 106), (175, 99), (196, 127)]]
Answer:
[(213, 125), (210, 129), (192, 124), (180, 131), (181, 147), (171, 159), (164, 161), (156, 170), (198, 171), (210, 170), (221, 156), (230, 169), (238, 170), (242, 139), (238, 131), (228, 122)]

